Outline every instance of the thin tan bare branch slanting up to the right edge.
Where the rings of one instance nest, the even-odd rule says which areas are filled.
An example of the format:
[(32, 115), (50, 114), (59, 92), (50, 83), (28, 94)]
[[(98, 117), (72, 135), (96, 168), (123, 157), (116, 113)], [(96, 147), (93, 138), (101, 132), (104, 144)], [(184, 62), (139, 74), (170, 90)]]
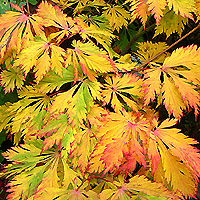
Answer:
[[(176, 44), (178, 44), (181, 40), (183, 40), (184, 38), (186, 38), (188, 35), (190, 35), (191, 33), (193, 33), (194, 31), (196, 31), (198, 28), (200, 28), (200, 23), (193, 28), (189, 33), (185, 34), (183, 37), (181, 37), (179, 40), (177, 40), (176, 42), (174, 42), (172, 45), (170, 45), (169, 47), (167, 47), (166, 49), (164, 49), (163, 51), (159, 52), (158, 54), (156, 54), (155, 56), (153, 56), (152, 58), (150, 58), (149, 60), (147, 60), (145, 63), (143, 63), (142, 65), (140, 65), (137, 68), (137, 71), (140, 71), (143, 67), (145, 67), (145, 65), (149, 64), (152, 60), (156, 59), (158, 56), (160, 56), (161, 54), (165, 53), (166, 51), (168, 51), (169, 49), (171, 49), (173, 46), (175, 46)], [(131, 70), (131, 73), (136, 72), (136, 70)]]

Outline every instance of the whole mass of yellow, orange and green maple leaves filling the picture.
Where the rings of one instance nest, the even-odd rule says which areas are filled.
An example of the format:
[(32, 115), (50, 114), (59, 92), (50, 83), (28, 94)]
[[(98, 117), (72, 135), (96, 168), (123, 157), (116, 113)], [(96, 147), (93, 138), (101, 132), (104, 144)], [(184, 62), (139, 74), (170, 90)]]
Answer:
[[(53, 0), (34, 13), (11, 5), (0, 17), (0, 82), (18, 94), (0, 106), (0, 131), (15, 144), (3, 153), (11, 161), (1, 173), (12, 177), (7, 198), (194, 197), (197, 141), (174, 125), (184, 112), (198, 116), (200, 48), (177, 48), (142, 68), (112, 47), (131, 23), (147, 28), (150, 17), (155, 36), (181, 35), (188, 19), (199, 20), (199, 1)], [(167, 44), (137, 48), (145, 63)]]

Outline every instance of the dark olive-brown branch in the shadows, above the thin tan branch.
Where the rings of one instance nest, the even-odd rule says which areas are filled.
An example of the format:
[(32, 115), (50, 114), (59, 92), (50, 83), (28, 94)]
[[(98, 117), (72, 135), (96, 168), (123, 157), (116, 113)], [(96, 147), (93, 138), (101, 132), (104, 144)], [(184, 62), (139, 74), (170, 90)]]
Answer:
[(130, 42), (126, 45), (126, 47), (122, 50), (121, 55), (125, 55), (128, 50), (132, 47), (132, 45), (146, 32), (149, 32), (150, 30), (154, 29), (156, 27), (156, 24), (152, 24), (151, 26), (144, 29), (143, 26), (140, 27), (138, 32), (133, 36), (133, 38), (130, 40)]

